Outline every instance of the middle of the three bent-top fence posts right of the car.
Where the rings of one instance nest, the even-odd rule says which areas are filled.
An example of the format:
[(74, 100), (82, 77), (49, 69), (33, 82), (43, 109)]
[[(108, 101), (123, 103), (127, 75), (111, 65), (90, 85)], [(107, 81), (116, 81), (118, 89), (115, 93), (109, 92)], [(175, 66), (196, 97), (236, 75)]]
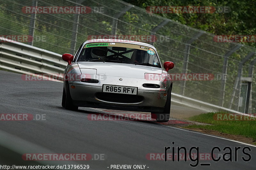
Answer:
[[(238, 44), (236, 45), (236, 47), (234, 47), (233, 49), (229, 50), (225, 55), (224, 55), (224, 62), (223, 62), (223, 67), (222, 67), (222, 80), (221, 80), (221, 87), (220, 89), (222, 89), (222, 91), (220, 91), (220, 96), (221, 96), (221, 99), (220, 100), (220, 104), (221, 107), (223, 107), (224, 105), (224, 98), (225, 98), (225, 89), (226, 89), (226, 75), (227, 75), (227, 70), (228, 70), (228, 57), (230, 55), (232, 55), (234, 52), (236, 52), (236, 50), (238, 50), (239, 48), (241, 48), (243, 45), (242, 44)], [(223, 75), (225, 75), (223, 77)]]

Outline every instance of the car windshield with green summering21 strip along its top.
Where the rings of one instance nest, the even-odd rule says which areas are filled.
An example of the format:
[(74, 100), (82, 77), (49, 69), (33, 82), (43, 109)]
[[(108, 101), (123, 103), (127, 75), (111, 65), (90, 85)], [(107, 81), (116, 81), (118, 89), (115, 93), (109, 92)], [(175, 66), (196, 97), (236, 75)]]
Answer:
[(161, 68), (153, 48), (114, 42), (86, 44), (77, 62), (127, 63)]

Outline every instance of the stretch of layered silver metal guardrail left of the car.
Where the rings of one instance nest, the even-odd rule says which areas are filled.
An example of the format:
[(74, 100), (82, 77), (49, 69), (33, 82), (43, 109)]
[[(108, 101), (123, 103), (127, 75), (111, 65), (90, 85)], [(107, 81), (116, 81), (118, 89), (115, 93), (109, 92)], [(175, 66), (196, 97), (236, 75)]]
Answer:
[(16, 73), (60, 74), (67, 63), (61, 55), (0, 37), (0, 68)]

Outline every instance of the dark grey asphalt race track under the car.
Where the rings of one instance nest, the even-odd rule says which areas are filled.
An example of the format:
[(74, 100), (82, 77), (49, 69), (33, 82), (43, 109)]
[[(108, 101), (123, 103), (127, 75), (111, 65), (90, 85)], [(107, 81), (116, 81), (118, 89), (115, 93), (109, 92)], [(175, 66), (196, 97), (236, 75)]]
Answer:
[[(0, 147), (1, 164), (32, 164), (33, 161), (21, 159), (20, 154), (25, 153), (90, 153), (92, 159), (100, 154), (104, 155), (104, 158), (74, 162), (79, 165), (90, 165), (90, 169), (113, 169), (111, 165), (145, 165), (145, 169), (152, 170), (192, 169), (190, 163), (194, 165), (196, 161), (148, 160), (156, 158), (152, 154), (152, 157), (148, 155), (164, 153), (165, 146), (174, 147), (175, 153), (177, 147), (184, 146), (189, 152), (192, 146), (196, 146), (201, 154), (210, 154), (213, 147), (217, 146), (221, 152), (216, 149), (214, 153), (221, 155), (229, 152), (228, 149), (223, 152), (223, 149), (229, 146), (232, 150), (232, 161), (225, 162), (221, 158), (214, 162), (203, 160), (205, 159), (203, 156), (194, 169), (252, 170), (256, 167), (256, 148), (249, 144), (247, 146), (251, 151), (245, 149), (245, 152), (251, 159), (246, 162), (242, 157), (248, 160), (249, 156), (242, 153), (242, 149), (246, 147), (242, 143), (152, 121), (89, 120), (90, 114), (106, 112), (94, 108), (79, 107), (79, 111), (62, 108), (63, 84), (60, 82), (24, 81), (20, 74), (5, 71), (0, 71), (0, 82), (0, 114), (32, 114), (34, 118), (36, 115), (45, 117), (45, 120), (0, 121), (0, 144), (4, 144)], [(175, 106), (172, 108), (172, 112), (175, 112)], [(235, 147), (239, 146), (241, 149), (236, 154)], [(183, 151), (181, 150), (181, 153), (184, 153)], [(13, 156), (8, 157), (7, 160), (7, 155), (11, 152)], [(167, 153), (172, 153), (172, 149)], [(43, 161), (38, 162), (36, 164), (44, 164)], [(63, 161), (61, 163), (63, 164)], [(68, 162), (64, 163), (68, 164)]]

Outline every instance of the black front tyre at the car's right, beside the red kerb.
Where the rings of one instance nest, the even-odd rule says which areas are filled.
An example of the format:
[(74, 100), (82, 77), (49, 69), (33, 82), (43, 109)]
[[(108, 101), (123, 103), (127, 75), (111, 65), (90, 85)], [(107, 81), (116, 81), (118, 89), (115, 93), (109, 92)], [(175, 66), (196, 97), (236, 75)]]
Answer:
[(172, 89), (169, 89), (167, 92), (167, 100), (164, 106), (164, 111), (162, 113), (151, 113), (151, 118), (156, 119), (157, 122), (168, 122), (170, 119), (171, 92)]

